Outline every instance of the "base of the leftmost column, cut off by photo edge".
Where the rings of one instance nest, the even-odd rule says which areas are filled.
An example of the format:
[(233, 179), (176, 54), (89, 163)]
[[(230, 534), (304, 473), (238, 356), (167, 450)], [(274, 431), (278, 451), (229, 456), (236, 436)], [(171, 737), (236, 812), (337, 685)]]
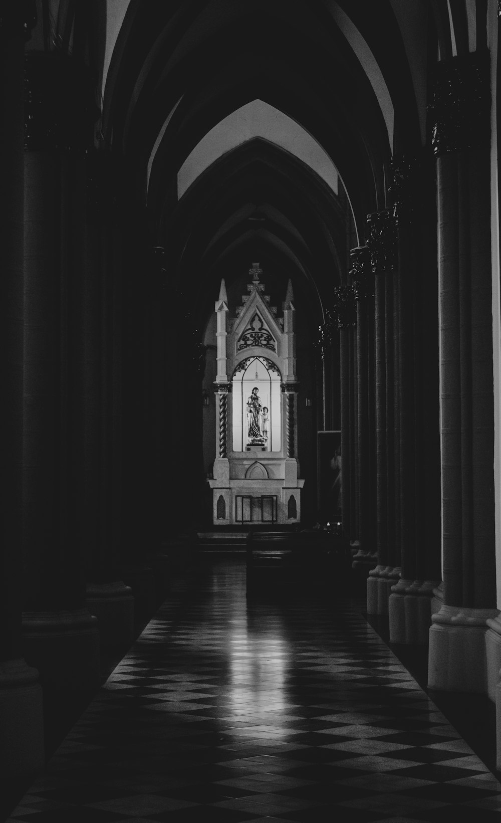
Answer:
[(0, 763), (4, 779), (44, 766), (44, 711), (39, 672), (23, 658), (0, 663)]

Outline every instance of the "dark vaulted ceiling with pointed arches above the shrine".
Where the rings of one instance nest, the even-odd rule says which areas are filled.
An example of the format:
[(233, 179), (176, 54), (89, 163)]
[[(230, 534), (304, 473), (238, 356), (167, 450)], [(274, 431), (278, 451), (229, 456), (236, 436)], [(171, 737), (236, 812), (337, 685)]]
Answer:
[(104, 141), (132, 170), (151, 242), (209, 304), (221, 270), (259, 259), (311, 283), (322, 319), (385, 207), (392, 154), (424, 143), (429, 61), (471, 40), (466, 12), (452, 37), (449, 9), (108, 0)]

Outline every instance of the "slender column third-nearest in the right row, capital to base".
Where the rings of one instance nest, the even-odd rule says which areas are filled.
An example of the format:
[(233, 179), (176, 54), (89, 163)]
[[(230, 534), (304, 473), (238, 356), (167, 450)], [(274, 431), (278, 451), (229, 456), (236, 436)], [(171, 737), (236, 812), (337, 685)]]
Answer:
[[(391, 212), (376, 212), (368, 217), (367, 246), (375, 280), (375, 345), (376, 345), (376, 455), (378, 506), (378, 565), (369, 572), (367, 580), (367, 611), (386, 615), (392, 585), (398, 579), (390, 533), (394, 533), (394, 414), (392, 383), (393, 335), (392, 302), (389, 300), (392, 272), (397, 263), (396, 226)], [(389, 305), (388, 305), (389, 303)], [(389, 320), (387, 317), (389, 313)], [(390, 327), (390, 328), (388, 328)]]

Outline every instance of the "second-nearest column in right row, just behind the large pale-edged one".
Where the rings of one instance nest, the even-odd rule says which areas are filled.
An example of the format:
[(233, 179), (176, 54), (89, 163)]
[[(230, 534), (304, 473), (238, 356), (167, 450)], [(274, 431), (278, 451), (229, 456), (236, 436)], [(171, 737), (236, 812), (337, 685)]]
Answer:
[[(401, 579), (388, 602), (393, 643), (426, 644), (438, 584), (438, 494), (429, 496), (427, 464), (438, 465), (438, 319), (434, 313), (436, 250), (425, 156), (392, 160), (391, 195), (398, 230), (398, 352)], [(437, 492), (438, 490), (436, 490)]]

